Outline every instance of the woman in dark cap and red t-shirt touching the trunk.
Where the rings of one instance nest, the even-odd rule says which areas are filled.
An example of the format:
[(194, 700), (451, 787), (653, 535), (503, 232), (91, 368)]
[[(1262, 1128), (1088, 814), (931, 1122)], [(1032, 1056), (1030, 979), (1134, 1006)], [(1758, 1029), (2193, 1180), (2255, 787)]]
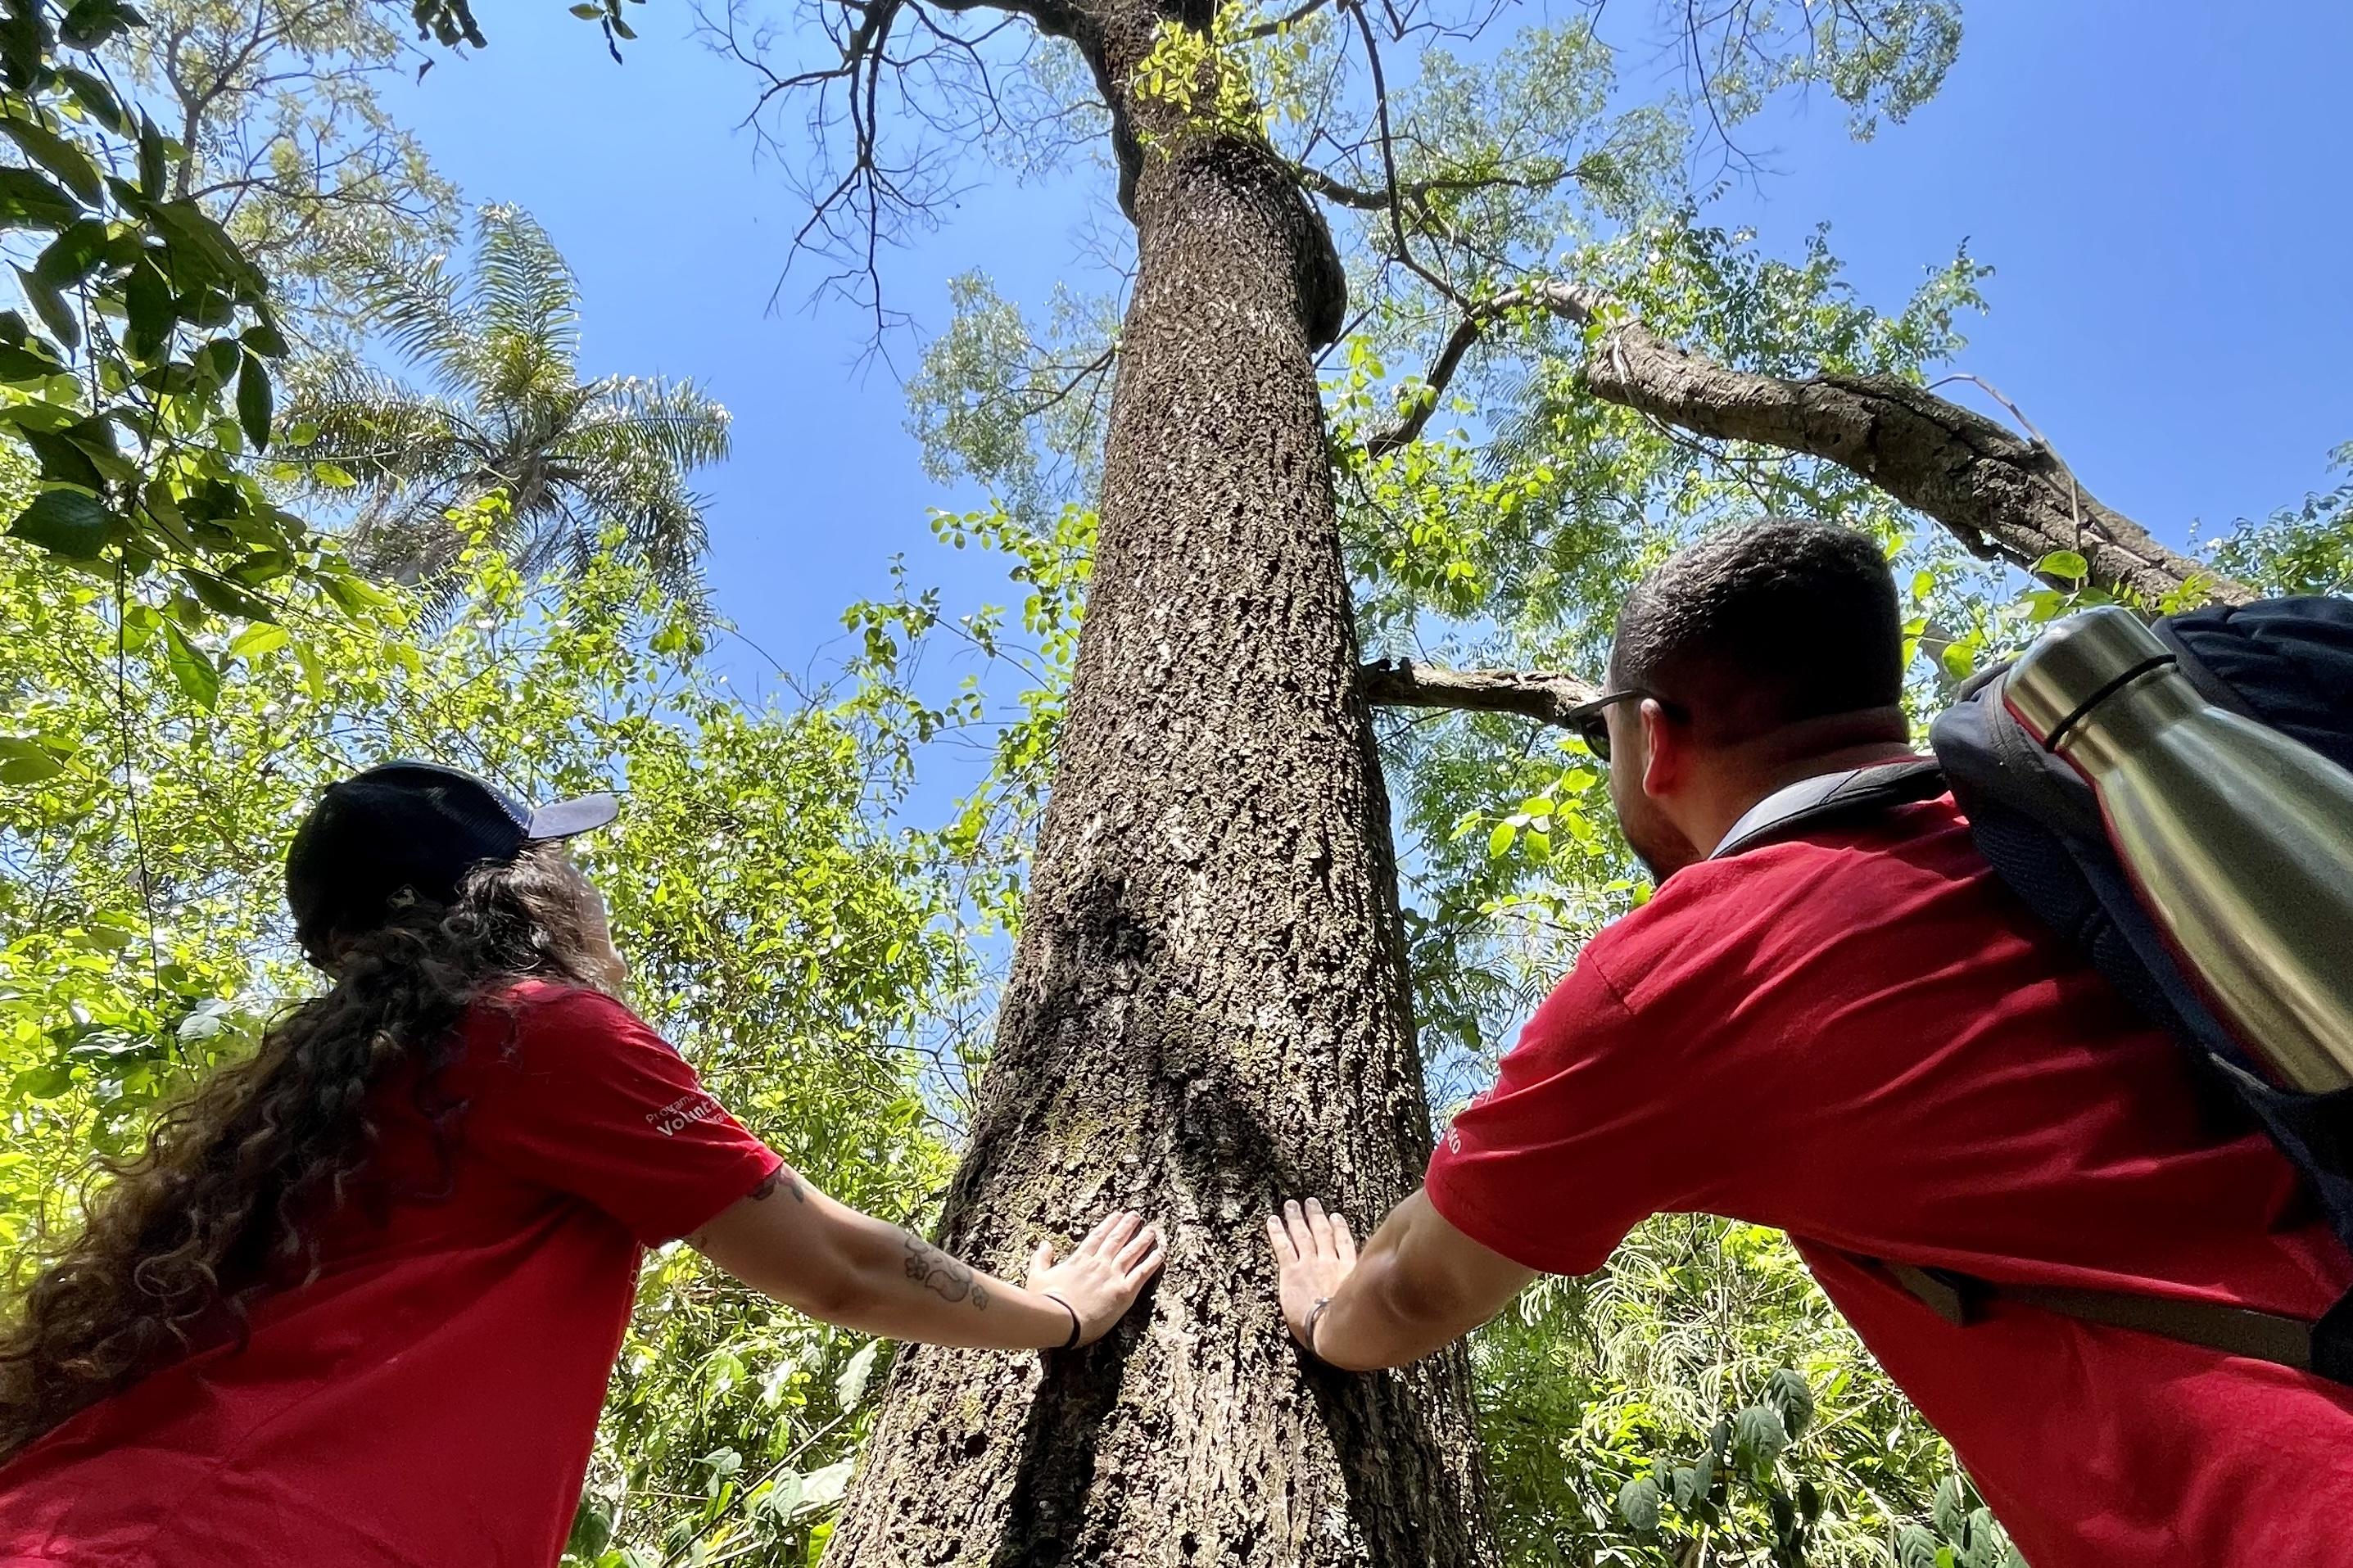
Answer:
[(332, 987), (214, 1072), (0, 1326), (0, 1566), (546, 1566), (642, 1248), (866, 1333), (1101, 1338), (1160, 1265), (1132, 1213), (1012, 1286), (835, 1204), (621, 1004), (595, 889), (431, 764), (336, 783), (287, 900)]

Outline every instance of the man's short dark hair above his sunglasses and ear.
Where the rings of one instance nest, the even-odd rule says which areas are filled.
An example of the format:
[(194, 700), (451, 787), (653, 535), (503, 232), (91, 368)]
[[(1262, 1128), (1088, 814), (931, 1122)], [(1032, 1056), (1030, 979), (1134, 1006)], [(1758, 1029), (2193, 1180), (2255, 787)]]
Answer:
[(1609, 684), (1687, 708), (1718, 741), (1904, 696), (1904, 618), (1878, 541), (1767, 517), (1678, 550), (1619, 611)]

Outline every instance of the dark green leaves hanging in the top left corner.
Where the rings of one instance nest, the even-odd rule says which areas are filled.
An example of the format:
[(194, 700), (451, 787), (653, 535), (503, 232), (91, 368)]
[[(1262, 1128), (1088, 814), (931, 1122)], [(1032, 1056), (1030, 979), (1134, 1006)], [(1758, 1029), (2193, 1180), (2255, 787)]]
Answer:
[[(31, 310), (0, 313), (5, 449), (31, 465), (9, 534), (99, 581), (179, 578), (162, 614), (268, 618), (336, 578), (249, 456), (299, 449), (273, 414), (287, 353), (261, 270), (188, 195), (188, 150), (106, 82), (141, 28), (115, 0), (0, 14), (0, 233)], [(193, 663), (191, 663), (193, 670)]]

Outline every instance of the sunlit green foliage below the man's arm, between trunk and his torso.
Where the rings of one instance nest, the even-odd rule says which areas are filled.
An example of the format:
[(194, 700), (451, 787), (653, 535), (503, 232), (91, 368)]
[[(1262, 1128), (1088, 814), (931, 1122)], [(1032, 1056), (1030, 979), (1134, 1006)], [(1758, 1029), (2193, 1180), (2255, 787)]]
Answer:
[[(1951, 1453), (1760, 1225), (1661, 1215), (1473, 1342), (1497, 1523), (1525, 1563), (1894, 1563)], [(1939, 1526), (1941, 1528), (1941, 1526)], [(1991, 1549), (1991, 1523), (1974, 1537)], [(2000, 1559), (1986, 1559), (2000, 1561)]]

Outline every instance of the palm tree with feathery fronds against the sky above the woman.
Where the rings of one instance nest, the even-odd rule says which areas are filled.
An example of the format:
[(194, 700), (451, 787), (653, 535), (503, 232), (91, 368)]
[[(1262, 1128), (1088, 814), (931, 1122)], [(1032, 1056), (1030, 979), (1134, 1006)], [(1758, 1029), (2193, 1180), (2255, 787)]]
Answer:
[[(506, 491), (504, 545), (529, 578), (581, 569), (607, 529), (682, 597), (701, 595), (704, 515), (687, 477), (727, 456), (727, 409), (692, 381), (579, 378), (579, 280), (518, 207), (475, 214), (473, 275), (445, 254), (353, 256), (367, 324), (428, 374), (416, 390), (332, 364), (299, 390), (304, 451), (358, 480), (353, 559), (391, 581), (449, 581), (452, 508)], [(332, 477), (332, 470), (327, 470)]]

